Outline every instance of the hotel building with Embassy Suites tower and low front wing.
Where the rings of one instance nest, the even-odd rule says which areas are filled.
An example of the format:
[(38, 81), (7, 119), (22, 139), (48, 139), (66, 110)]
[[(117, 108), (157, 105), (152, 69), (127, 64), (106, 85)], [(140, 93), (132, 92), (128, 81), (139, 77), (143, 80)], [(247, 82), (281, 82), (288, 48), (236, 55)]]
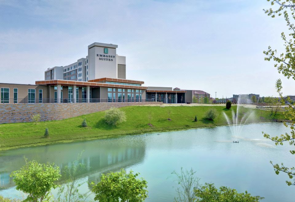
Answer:
[(85, 58), (48, 68), (35, 85), (0, 83), (1, 103), (192, 103), (196, 91), (146, 87), (144, 81), (126, 79), (126, 57), (117, 48), (92, 43)]

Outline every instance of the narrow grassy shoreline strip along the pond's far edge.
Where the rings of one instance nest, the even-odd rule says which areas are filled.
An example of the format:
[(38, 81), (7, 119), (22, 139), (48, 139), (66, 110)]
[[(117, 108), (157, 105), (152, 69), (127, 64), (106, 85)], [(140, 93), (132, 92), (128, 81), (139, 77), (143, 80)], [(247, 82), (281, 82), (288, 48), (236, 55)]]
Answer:
[[(284, 122), (284, 121), (274, 120), (274, 121), (269, 121), (269, 122), (251, 122), (251, 123), (243, 123), (243, 124), (238, 124), (238, 125), (248, 125), (248, 124), (255, 124), (255, 123), (272, 123), (272, 122)], [(38, 147), (38, 146), (45, 146), (45, 145), (51, 145), (51, 144), (63, 144), (63, 143), (70, 143), (70, 142), (83, 142), (83, 141), (98, 140), (98, 139), (116, 138), (116, 137), (122, 137), (122, 136), (127, 136), (127, 135), (140, 135), (140, 134), (147, 134), (147, 133), (159, 133), (159, 132), (169, 132), (169, 131), (179, 131), (179, 130), (215, 128), (215, 127), (223, 127), (223, 126), (233, 126), (233, 125), (214, 125), (214, 126), (194, 127), (194, 128), (187, 127), (187, 128), (179, 128), (179, 129), (166, 129), (166, 130), (159, 130), (159, 131), (151, 131), (151, 132), (144, 132), (144, 133), (130, 133), (130, 134), (122, 134), (122, 135), (107, 135), (107, 136), (94, 136), (94, 137), (56, 140), (56, 141), (50, 141), (50, 142), (23, 144), (23, 145), (18, 145), (18, 146), (13, 146), (13, 147), (0, 148), (0, 151), (7, 151), (7, 150), (11, 150), (11, 149), (19, 149), (19, 148), (27, 148), (27, 147)]]

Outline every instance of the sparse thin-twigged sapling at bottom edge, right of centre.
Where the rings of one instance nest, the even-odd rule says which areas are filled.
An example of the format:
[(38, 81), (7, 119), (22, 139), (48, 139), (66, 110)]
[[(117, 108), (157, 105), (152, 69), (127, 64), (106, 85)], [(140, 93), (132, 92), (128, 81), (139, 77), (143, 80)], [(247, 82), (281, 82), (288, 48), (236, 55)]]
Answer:
[(199, 187), (199, 178), (195, 177), (195, 173), (193, 169), (183, 171), (183, 168), (181, 168), (180, 174), (175, 171), (171, 173), (177, 176), (177, 182), (180, 186), (176, 189), (177, 197), (174, 198), (175, 201), (196, 201), (194, 190)]

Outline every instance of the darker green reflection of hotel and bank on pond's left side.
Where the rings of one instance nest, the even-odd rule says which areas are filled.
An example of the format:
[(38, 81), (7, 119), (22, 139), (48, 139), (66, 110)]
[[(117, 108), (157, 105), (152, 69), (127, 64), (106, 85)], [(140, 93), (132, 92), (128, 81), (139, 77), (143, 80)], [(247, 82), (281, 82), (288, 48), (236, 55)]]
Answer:
[(0, 157), (0, 189), (14, 186), (9, 175), (24, 165), (24, 156), (29, 161), (36, 160), (39, 163), (54, 162), (63, 169), (71, 166), (84, 150), (80, 163), (87, 168), (80, 175), (87, 175), (90, 181), (97, 182), (101, 173), (117, 171), (142, 162), (145, 147), (145, 142), (140, 137), (132, 137), (132, 141), (130, 137), (119, 137), (5, 151)]

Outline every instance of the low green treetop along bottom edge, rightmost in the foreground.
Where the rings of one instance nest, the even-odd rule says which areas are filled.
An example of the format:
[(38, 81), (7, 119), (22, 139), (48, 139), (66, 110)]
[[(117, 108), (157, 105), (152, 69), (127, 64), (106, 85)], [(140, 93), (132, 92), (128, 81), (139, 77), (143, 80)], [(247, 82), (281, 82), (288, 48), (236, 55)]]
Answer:
[(214, 184), (205, 183), (200, 189), (195, 189), (196, 201), (241, 201), (241, 202), (256, 202), (262, 200), (264, 197), (251, 196), (250, 193), (238, 193), (235, 189), (221, 186), (219, 190)]

